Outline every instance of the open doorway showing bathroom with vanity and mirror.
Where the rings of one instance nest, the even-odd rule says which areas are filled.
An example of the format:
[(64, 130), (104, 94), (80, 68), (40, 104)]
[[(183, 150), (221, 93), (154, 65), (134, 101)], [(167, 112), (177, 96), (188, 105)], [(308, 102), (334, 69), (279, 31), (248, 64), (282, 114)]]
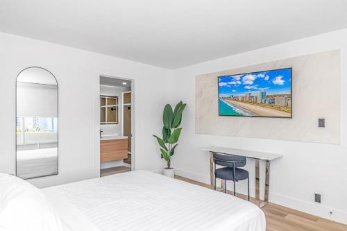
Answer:
[(100, 176), (133, 168), (133, 80), (100, 76)]

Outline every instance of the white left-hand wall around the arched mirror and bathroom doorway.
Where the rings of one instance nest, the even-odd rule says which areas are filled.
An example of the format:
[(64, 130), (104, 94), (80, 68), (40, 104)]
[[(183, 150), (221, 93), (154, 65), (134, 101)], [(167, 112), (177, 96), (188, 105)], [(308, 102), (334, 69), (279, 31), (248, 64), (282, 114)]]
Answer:
[[(99, 135), (95, 101), (100, 74), (134, 79), (135, 169), (164, 166), (152, 134), (162, 130), (169, 71), (5, 33), (0, 33), (0, 51), (0, 172), (15, 173), (15, 83), (22, 69), (33, 66), (51, 71), (58, 81), (59, 175), (30, 182), (47, 187), (98, 175), (94, 137)], [(140, 123), (139, 115), (146, 123)]]

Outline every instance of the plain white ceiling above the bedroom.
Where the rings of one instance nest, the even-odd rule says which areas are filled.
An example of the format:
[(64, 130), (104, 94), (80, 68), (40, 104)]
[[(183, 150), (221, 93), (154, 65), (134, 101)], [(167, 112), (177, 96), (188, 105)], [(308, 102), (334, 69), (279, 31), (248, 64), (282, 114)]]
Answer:
[(347, 28), (346, 0), (1, 0), (0, 31), (176, 69)]

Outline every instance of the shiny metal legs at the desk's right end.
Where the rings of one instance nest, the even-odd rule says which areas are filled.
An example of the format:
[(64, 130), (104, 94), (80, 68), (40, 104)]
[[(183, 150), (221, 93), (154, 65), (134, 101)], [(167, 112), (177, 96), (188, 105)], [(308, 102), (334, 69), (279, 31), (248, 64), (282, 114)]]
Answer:
[[(257, 168), (257, 166), (259, 166)], [(255, 178), (255, 203), (259, 207), (264, 207), (269, 202), (269, 178), (270, 178), (270, 162), (266, 160), (265, 170), (265, 194), (264, 201), (260, 200), (260, 161), (255, 160), (255, 176), (259, 176), (259, 179)]]

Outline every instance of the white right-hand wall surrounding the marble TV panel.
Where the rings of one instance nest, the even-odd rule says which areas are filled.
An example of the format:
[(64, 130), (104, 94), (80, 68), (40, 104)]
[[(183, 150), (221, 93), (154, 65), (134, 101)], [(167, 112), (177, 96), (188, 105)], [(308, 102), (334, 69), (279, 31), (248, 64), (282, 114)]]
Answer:
[[(196, 75), (332, 49), (341, 49), (341, 145), (195, 134)], [(271, 164), (269, 200), (347, 223), (347, 101), (344, 100), (347, 97), (346, 55), (347, 30), (342, 30), (172, 71), (172, 100), (174, 103), (180, 100), (187, 103), (187, 110), (183, 114), (183, 132), (172, 161), (173, 166), (182, 176), (209, 182), (208, 154), (201, 151), (205, 146), (229, 146), (280, 153), (284, 157)], [(322, 93), (329, 96), (329, 92)], [(247, 167), (254, 177), (254, 162), (248, 162)], [(254, 180), (251, 183), (254, 184)], [(246, 181), (239, 182), (237, 187), (245, 193)], [(322, 195), (321, 204), (314, 203), (315, 192)]]

